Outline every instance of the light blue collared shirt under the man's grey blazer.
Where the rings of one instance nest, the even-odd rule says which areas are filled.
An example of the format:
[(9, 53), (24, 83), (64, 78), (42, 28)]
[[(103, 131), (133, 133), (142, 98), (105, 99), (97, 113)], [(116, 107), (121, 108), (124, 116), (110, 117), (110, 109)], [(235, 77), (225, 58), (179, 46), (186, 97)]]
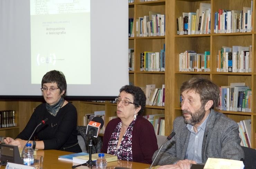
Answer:
[(197, 128), (197, 133), (195, 133), (192, 125), (187, 124), (188, 130), (191, 132), (189, 138), (189, 145), (186, 151), (185, 159), (194, 160), (196, 163), (202, 163), (202, 143), (205, 126), (209, 115), (204, 120), (204, 122)]

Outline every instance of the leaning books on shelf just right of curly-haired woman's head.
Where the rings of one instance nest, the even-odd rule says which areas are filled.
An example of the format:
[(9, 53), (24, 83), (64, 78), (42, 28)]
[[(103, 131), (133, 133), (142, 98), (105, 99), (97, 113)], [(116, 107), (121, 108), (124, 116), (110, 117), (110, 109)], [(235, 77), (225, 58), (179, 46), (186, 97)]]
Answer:
[(165, 85), (162, 88), (156, 88), (155, 84), (148, 84), (146, 87), (140, 87), (146, 95), (147, 105), (164, 106), (165, 102)]

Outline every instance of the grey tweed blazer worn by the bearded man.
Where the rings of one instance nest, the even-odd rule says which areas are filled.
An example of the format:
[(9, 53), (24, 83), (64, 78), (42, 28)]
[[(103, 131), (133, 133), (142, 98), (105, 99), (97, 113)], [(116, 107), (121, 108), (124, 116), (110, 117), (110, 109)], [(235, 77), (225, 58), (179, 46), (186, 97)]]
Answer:
[[(174, 120), (173, 131), (176, 134), (163, 145), (154, 165), (169, 165), (185, 159), (190, 138), (190, 131), (186, 125), (182, 116)], [(208, 158), (233, 160), (244, 158), (238, 125), (224, 114), (211, 110), (203, 137), (202, 163), (205, 163)], [(152, 160), (157, 152), (158, 150), (154, 153)]]

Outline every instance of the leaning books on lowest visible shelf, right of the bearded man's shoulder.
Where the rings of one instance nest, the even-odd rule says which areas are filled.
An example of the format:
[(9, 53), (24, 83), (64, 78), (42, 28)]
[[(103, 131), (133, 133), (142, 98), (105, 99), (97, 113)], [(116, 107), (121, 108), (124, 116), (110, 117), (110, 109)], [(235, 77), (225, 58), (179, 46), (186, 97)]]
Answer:
[(251, 142), (251, 126), (252, 126), (252, 121), (251, 119), (247, 120), (241, 120), (240, 122), (237, 122), (238, 127), (239, 127), (239, 136), (241, 138), (241, 146), (245, 147), (252, 147), (252, 142)]

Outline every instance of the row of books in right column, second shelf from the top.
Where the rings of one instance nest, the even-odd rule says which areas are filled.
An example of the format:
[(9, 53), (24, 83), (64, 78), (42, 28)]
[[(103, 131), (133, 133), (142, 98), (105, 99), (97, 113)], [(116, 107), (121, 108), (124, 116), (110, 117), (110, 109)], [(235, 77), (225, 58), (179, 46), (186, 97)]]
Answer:
[(222, 46), (216, 64), (217, 72), (252, 72), (252, 45)]

